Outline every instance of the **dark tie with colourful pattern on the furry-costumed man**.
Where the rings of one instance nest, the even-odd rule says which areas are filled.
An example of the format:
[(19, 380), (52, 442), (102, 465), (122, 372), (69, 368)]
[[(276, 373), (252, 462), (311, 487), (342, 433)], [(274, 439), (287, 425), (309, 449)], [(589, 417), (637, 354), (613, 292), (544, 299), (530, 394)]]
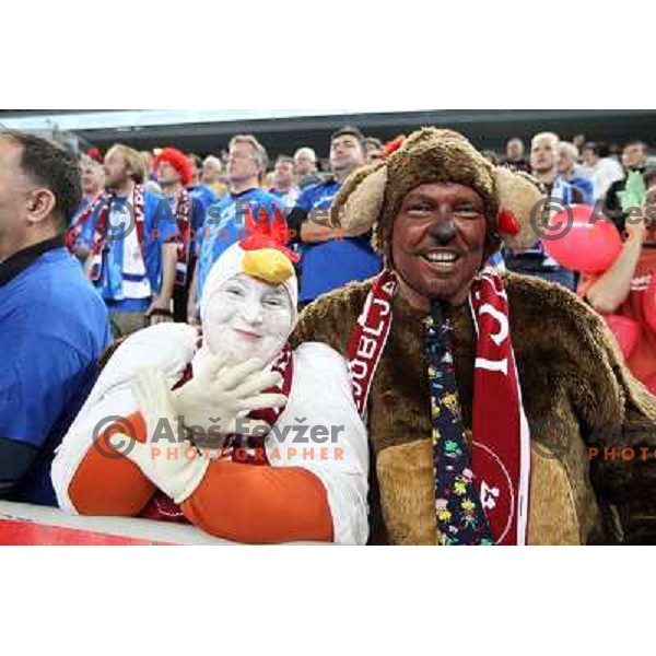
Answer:
[(433, 419), (437, 543), (494, 544), (471, 470), (454, 370), (450, 324), (433, 301), (424, 320)]

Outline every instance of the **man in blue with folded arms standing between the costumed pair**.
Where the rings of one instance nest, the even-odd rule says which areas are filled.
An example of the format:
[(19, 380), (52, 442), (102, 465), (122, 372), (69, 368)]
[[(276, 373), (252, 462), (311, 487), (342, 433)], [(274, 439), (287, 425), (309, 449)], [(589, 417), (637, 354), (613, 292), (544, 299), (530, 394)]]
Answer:
[(343, 127), (330, 138), (331, 176), (306, 187), (289, 214), (290, 229), (302, 246), (301, 294), (305, 305), (355, 280), (366, 280), (380, 271), (382, 262), (371, 246), (368, 234), (343, 236), (329, 224), (328, 208), (342, 183), (365, 164), (364, 137), (358, 128)]

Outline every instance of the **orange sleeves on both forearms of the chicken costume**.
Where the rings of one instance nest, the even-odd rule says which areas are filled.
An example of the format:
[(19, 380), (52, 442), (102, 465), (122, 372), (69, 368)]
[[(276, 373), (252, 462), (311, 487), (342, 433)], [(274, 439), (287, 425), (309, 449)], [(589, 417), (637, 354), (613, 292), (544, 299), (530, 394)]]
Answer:
[[(139, 412), (127, 420), (145, 442)], [(82, 515), (137, 516), (156, 492), (128, 458), (113, 453), (107, 431), (91, 446), (69, 485)], [(117, 454), (118, 455), (118, 454)], [(200, 485), (181, 504), (187, 519), (214, 536), (238, 542), (332, 541), (332, 516), (321, 481), (301, 467), (210, 462)]]

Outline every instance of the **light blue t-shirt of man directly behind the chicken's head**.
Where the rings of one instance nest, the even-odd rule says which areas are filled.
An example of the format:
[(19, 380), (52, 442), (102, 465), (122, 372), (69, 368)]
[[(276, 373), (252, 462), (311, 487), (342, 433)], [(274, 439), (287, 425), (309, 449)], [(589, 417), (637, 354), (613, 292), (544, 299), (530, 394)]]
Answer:
[(247, 209), (250, 209), (255, 218), (268, 218), (271, 225), (277, 216), (284, 215), (280, 201), (263, 189), (224, 194), (208, 210), (206, 222), (197, 237), (200, 251), (197, 278), (198, 303), (212, 265), (224, 250), (246, 236)]

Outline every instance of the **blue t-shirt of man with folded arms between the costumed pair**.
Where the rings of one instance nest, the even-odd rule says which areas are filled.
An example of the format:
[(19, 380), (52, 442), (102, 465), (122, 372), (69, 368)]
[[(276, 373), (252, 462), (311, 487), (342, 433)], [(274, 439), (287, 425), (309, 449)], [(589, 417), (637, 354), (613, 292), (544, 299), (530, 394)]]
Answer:
[[(327, 180), (306, 187), (296, 207), (326, 210), (332, 203), (341, 184)], [(355, 280), (366, 280), (380, 272), (383, 263), (366, 236), (304, 242), (301, 248), (301, 293), (298, 301), (314, 301), (319, 294)]]

